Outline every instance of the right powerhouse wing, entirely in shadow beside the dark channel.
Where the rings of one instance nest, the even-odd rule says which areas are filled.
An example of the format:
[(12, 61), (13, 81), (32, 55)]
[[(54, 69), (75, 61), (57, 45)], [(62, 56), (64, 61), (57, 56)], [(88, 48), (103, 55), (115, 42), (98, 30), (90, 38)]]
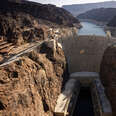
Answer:
[(95, 116), (112, 116), (111, 104), (99, 79), (92, 82), (91, 94)]

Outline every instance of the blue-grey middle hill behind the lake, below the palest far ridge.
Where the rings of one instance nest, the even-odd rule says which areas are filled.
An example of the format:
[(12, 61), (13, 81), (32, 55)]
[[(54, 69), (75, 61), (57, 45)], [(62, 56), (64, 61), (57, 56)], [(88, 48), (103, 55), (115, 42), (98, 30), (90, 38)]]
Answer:
[(114, 16), (116, 16), (116, 8), (99, 8), (80, 14), (77, 18), (108, 23)]

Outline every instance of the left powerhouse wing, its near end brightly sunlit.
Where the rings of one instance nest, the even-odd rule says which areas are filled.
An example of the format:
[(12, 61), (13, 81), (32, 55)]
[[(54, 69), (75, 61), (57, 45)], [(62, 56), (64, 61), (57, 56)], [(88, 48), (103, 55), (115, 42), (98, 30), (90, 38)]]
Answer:
[(76, 79), (69, 79), (58, 97), (54, 116), (72, 116), (79, 91), (80, 83)]

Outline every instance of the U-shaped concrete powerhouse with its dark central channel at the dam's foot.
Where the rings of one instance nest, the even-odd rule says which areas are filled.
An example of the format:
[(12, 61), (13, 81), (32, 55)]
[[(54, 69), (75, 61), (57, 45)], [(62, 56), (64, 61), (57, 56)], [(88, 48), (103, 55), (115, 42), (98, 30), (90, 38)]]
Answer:
[(112, 116), (110, 102), (96, 72), (72, 73), (55, 107), (55, 116), (84, 115)]

